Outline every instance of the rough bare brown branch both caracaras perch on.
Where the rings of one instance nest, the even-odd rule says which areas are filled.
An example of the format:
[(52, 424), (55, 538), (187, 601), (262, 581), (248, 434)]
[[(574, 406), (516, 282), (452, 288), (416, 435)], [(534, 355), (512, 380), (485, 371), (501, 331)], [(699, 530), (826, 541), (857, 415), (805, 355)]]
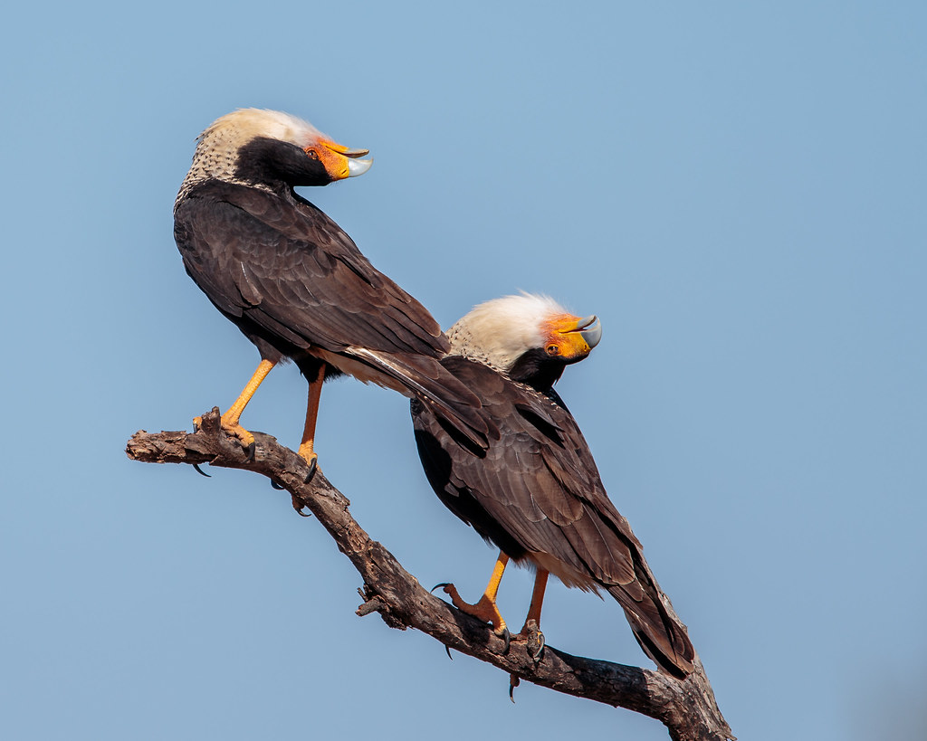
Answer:
[(270, 435), (254, 436), (255, 455), (248, 459), (242, 446), (222, 433), (219, 409), (213, 408), (203, 416), (196, 433), (133, 434), (126, 454), (147, 463), (210, 463), (254, 471), (285, 488), (294, 506), (309, 509), (360, 572), (364, 602), (358, 615), (379, 612), (390, 627), (420, 630), (446, 647), (508, 672), (515, 684), (525, 679), (567, 695), (643, 713), (664, 723), (675, 741), (734, 738), (717, 708), (697, 655), (695, 672), (679, 682), (661, 672), (571, 656), (550, 646), (537, 664), (522, 643), (513, 642), (502, 654), (502, 638), (492, 634), (484, 623), (426, 591), (383, 545), (363, 531), (350, 515), (348, 498), (328, 482), (322, 471), (316, 471), (311, 482), (305, 483), (309, 468), (302, 458)]

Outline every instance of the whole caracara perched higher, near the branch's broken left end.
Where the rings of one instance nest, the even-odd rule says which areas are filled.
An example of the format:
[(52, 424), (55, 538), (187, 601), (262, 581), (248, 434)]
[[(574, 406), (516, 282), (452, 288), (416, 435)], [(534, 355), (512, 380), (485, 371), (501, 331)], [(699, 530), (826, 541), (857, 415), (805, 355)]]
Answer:
[(293, 359), (310, 384), (298, 451), (309, 475), (322, 383), (342, 373), (421, 398), (477, 447), (485, 440), (476, 396), (438, 363), (449, 349), (438, 322), (293, 190), (362, 175), (367, 154), (286, 113), (237, 110), (200, 134), (174, 203), (187, 273), (260, 352), (222, 429), (253, 454), (241, 413), (273, 366)]

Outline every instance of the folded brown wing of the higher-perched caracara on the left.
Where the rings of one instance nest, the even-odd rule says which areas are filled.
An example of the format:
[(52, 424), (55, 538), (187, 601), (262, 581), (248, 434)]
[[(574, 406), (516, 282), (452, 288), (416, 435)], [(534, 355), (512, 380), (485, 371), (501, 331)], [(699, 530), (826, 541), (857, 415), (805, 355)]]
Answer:
[(209, 182), (178, 204), (174, 232), (187, 272), (212, 302), (272, 344), (432, 358), (447, 351), (428, 311), (308, 201)]

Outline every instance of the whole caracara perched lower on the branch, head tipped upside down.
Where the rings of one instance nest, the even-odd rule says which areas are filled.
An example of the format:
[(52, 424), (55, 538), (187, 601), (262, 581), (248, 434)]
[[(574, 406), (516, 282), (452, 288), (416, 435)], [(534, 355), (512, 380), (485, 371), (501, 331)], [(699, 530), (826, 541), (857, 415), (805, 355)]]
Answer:
[(543, 634), (536, 652), (531, 636), (540, 633), (548, 575), (568, 587), (604, 590), (624, 609), (657, 667), (684, 679), (695, 655), (687, 630), (664, 605), (640, 541), (608, 498), (589, 445), (553, 389), (566, 366), (599, 343), (602, 322), (574, 316), (548, 296), (509, 295), (476, 306), (448, 337), (451, 351), (441, 364), (479, 396), (489, 445), (473, 446), (413, 400), (415, 442), (438, 498), (500, 554), (476, 604), (464, 602), (453, 584), (435, 589), (443, 587), (455, 607), (491, 623), (508, 647), (510, 633), (496, 606), (502, 573), (510, 559), (535, 569), (519, 636), (536, 661)]

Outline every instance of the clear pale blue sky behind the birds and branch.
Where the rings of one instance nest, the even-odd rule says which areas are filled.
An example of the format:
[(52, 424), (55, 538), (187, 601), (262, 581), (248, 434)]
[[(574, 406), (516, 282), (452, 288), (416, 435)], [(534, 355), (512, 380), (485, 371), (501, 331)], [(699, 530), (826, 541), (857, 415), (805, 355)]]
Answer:
[[(125, 458), (257, 365), (171, 234), (197, 133), (254, 106), (372, 150), (304, 195), (443, 326), (518, 289), (602, 318), (559, 390), (735, 735), (927, 737), (927, 6), (19, 4), (2, 37), (0, 735), (667, 737), (356, 617), (266, 480)], [(495, 554), (406, 400), (322, 401), (354, 516), (476, 598)], [(282, 368), (244, 422), (297, 446), (304, 404)], [(650, 666), (560, 584), (544, 631)]]

